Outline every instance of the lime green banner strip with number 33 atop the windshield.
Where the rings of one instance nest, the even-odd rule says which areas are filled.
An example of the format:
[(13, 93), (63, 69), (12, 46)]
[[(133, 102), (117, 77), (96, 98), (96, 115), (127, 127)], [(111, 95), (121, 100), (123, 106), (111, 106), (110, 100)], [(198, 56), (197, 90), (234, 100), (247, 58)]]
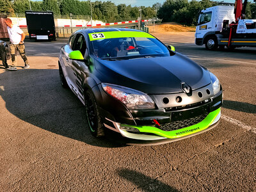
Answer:
[[(100, 32), (99, 32), (100, 33)], [(154, 36), (150, 35), (149, 33), (140, 32), (140, 31), (108, 31), (102, 32), (104, 34), (104, 38), (93, 38), (93, 34), (99, 33), (89, 33), (90, 41), (99, 40), (104, 38), (125, 38), (125, 37), (145, 37), (145, 38), (155, 38)]]

